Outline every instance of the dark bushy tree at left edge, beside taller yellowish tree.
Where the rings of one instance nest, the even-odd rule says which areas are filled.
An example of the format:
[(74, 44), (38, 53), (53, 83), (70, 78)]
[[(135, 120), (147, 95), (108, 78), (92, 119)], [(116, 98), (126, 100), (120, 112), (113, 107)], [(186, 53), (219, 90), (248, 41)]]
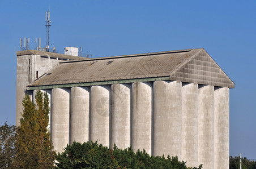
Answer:
[(0, 168), (14, 168), (16, 127), (0, 126)]

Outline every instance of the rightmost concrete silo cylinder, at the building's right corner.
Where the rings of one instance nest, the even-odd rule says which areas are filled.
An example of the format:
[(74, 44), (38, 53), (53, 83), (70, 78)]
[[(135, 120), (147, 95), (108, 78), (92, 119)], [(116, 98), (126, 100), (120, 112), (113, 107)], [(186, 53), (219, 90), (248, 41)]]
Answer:
[(214, 91), (214, 168), (229, 167), (229, 88)]

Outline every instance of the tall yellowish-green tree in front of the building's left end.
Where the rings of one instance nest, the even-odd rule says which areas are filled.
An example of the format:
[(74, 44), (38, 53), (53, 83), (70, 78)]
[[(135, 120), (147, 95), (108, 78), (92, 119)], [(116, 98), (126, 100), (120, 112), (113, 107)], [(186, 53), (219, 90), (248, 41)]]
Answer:
[(29, 95), (25, 95), (23, 114), (18, 127), (16, 142), (16, 167), (18, 168), (51, 168), (56, 153), (50, 141), (49, 98), (46, 92), (36, 93), (36, 104)]

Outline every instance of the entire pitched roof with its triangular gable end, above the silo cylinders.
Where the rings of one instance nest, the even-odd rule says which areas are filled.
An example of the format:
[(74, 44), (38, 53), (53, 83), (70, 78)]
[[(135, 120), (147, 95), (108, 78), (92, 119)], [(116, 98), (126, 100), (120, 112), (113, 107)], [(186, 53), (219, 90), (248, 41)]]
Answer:
[(49, 70), (31, 86), (157, 77), (234, 87), (231, 79), (203, 48), (65, 61)]

